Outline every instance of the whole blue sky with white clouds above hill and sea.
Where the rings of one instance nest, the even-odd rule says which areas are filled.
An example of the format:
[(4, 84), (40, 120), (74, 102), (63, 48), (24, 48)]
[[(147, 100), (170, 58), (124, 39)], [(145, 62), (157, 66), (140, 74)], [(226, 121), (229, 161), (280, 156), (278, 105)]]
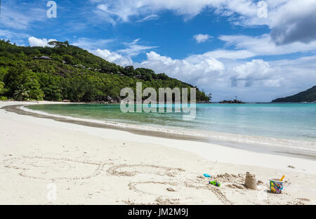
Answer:
[(315, 0), (1, 0), (0, 38), (70, 41), (118, 65), (165, 72), (213, 100), (270, 101), (316, 84)]

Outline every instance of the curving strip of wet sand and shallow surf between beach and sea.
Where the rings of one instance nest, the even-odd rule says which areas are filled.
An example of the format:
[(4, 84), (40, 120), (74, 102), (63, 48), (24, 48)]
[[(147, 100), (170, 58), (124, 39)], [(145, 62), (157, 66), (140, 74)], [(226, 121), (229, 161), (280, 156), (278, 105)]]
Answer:
[[(58, 102), (39, 102), (39, 104), (72, 104)], [(82, 104), (82, 103), (77, 103)], [(315, 142), (305, 142), (301, 140), (285, 140), (270, 138), (265, 136), (239, 135), (232, 133), (219, 133), (213, 131), (187, 131), (183, 128), (158, 128), (154, 126), (123, 124), (114, 121), (98, 121), (96, 119), (82, 119), (78, 117), (68, 117), (58, 114), (48, 114), (37, 110), (27, 109), (27, 105), (8, 105), (3, 107), (8, 112), (30, 115), (32, 117), (53, 119), (55, 121), (79, 124), (95, 128), (111, 128), (119, 131), (129, 131), (139, 135), (148, 135), (159, 138), (169, 138), (175, 140), (194, 140), (198, 142), (209, 142), (224, 147), (232, 147), (251, 152), (261, 152), (268, 154), (281, 154), (289, 157), (302, 157), (305, 159), (316, 160), (316, 150), (307, 148), (293, 147), (292, 145), (308, 145), (315, 147)], [(179, 131), (180, 129), (180, 131)]]

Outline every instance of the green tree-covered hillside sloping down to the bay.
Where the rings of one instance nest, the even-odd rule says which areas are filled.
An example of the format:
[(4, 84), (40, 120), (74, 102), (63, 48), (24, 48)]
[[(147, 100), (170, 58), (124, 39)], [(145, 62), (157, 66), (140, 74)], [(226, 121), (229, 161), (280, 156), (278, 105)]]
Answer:
[[(0, 40), (0, 100), (118, 100), (121, 88), (135, 90), (138, 81), (143, 82), (143, 88), (157, 91), (159, 87), (193, 87), (151, 69), (115, 65), (67, 41), (50, 44), (16, 46)], [(52, 60), (34, 59), (41, 56)], [(209, 97), (197, 89), (197, 101), (208, 101)]]

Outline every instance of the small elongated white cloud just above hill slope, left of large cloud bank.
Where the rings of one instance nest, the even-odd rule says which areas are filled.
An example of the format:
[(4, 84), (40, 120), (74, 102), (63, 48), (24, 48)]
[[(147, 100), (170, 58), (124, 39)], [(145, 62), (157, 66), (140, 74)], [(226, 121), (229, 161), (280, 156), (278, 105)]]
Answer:
[(91, 51), (94, 55), (98, 55), (100, 58), (107, 60), (108, 62), (114, 62), (117, 65), (126, 66), (132, 65), (131, 58), (124, 57), (118, 53), (108, 51), (107, 49), (101, 50), (98, 48), (96, 51)]

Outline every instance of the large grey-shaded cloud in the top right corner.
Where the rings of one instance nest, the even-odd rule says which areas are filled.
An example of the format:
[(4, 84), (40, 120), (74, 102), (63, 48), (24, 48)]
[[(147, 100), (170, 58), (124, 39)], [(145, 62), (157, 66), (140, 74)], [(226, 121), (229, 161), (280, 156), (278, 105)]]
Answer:
[[(270, 38), (276, 45), (294, 42), (308, 44), (316, 39), (316, 1), (313, 0), (265, 0), (267, 18), (245, 13), (232, 19), (236, 25), (267, 25)], [(253, 8), (257, 11), (258, 8)], [(235, 12), (239, 13), (237, 10)]]

